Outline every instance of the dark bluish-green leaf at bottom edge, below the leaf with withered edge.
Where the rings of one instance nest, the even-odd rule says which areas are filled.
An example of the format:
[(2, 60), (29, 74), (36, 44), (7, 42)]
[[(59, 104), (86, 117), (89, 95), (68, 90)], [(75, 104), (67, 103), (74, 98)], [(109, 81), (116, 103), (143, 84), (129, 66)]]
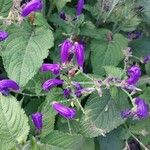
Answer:
[(99, 142), (100, 150), (123, 150), (124, 141), (121, 137), (121, 128), (118, 128), (109, 134), (106, 137), (97, 137), (97, 141)]

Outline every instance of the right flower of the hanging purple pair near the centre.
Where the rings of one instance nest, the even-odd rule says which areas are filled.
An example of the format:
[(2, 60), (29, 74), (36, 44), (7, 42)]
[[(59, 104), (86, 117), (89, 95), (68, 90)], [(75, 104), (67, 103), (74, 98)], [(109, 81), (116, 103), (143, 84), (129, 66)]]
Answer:
[(83, 64), (84, 64), (84, 46), (82, 44), (76, 42), (74, 44), (74, 50), (75, 50), (78, 66), (83, 68)]

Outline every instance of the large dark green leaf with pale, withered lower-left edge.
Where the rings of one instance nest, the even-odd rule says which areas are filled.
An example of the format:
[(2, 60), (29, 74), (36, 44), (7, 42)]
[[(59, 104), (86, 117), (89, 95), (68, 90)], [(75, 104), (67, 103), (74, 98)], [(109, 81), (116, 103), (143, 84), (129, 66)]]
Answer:
[(99, 97), (97, 93), (89, 97), (85, 106), (85, 115), (81, 119), (81, 132), (84, 136), (105, 135), (124, 123), (125, 120), (120, 116), (123, 108), (120, 106), (125, 106), (120, 103), (126, 102), (127, 99), (119, 97), (114, 101), (108, 91), (105, 91), (102, 97)]

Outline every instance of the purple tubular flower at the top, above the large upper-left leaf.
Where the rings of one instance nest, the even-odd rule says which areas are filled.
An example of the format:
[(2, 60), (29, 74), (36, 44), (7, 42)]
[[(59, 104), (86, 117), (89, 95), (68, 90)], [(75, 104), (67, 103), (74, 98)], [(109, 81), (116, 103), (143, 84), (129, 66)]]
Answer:
[(32, 12), (36, 12), (42, 9), (41, 0), (31, 0), (22, 7), (21, 16), (26, 17)]

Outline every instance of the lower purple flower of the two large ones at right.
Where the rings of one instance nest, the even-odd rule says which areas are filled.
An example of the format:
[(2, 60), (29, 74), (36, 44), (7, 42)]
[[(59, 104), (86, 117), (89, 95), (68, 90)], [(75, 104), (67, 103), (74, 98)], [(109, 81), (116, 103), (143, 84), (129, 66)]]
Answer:
[(139, 119), (144, 119), (149, 116), (149, 106), (145, 101), (139, 97), (134, 100), (135, 107), (133, 108), (133, 113), (135, 117)]

